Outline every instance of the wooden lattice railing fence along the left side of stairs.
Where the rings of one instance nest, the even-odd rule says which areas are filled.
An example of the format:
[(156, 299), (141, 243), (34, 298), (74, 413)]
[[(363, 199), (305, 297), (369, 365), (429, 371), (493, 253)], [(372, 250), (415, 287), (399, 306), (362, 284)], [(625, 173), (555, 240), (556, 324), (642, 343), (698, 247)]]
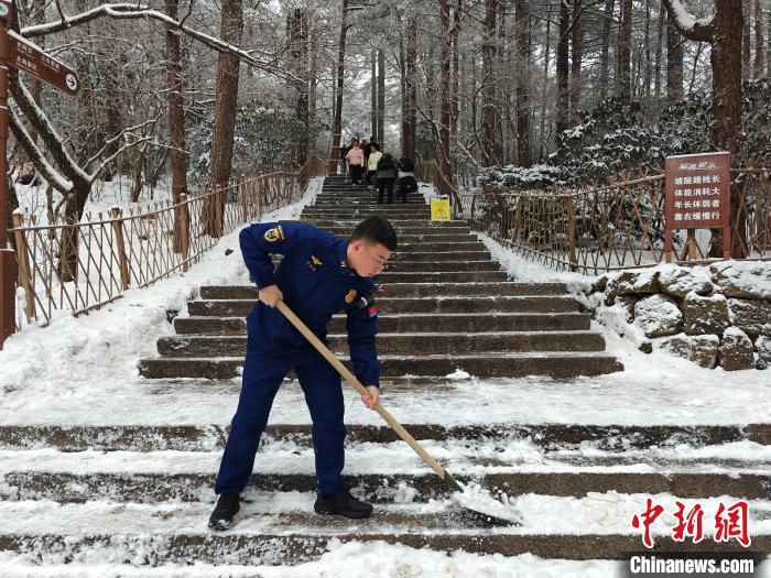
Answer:
[[(67, 219), (13, 215), (17, 248), (17, 326), (46, 324), (56, 312), (82, 314), (99, 308), (130, 287), (146, 287), (187, 269), (218, 237), (257, 221), (265, 212), (300, 199), (307, 181), (326, 174), (313, 156), (296, 173), (240, 177), (238, 183), (177, 204), (156, 203), (109, 214)], [(210, 235), (216, 223), (218, 236)]]

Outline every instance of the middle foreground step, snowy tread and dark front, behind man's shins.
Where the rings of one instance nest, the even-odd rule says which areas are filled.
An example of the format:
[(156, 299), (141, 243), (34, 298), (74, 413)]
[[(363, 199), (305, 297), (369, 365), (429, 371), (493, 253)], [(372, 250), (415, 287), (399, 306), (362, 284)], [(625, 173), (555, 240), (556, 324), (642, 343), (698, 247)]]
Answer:
[[(84, 502), (196, 502), (213, 494), (221, 452), (82, 451), (56, 456), (52, 450), (0, 452), (0, 499)], [(258, 454), (245, 497), (263, 491), (312, 492), (316, 488), (311, 449), (298, 455)], [(305, 454), (305, 455), (303, 455)], [(361, 457), (361, 456), (366, 457)], [(33, 461), (45, 459), (44, 464)], [(771, 468), (746, 462), (680, 460), (666, 465), (582, 466), (569, 462), (492, 467), (480, 460), (449, 460), (448, 471), (461, 483), (478, 483), (509, 497), (544, 494), (584, 497), (591, 492), (671, 493), (681, 498), (732, 495), (771, 500)], [(344, 476), (373, 503), (388, 503), (401, 492), (420, 501), (442, 499), (447, 488), (416, 456), (403, 450), (347, 451)]]

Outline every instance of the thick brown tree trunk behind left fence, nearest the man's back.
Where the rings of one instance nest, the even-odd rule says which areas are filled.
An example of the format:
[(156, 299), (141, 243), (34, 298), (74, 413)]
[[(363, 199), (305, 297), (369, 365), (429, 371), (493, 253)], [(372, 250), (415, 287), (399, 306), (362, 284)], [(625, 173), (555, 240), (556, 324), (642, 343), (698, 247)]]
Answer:
[[(241, 44), (242, 31), (243, 6), (241, 0), (222, 0), (220, 37), (230, 44), (239, 45)], [(207, 192), (222, 189), (228, 186), (230, 181), (240, 63), (240, 58), (232, 54), (219, 53), (217, 59), (217, 88)], [(225, 225), (225, 194), (209, 196), (206, 200), (204, 232), (210, 237), (221, 237)]]

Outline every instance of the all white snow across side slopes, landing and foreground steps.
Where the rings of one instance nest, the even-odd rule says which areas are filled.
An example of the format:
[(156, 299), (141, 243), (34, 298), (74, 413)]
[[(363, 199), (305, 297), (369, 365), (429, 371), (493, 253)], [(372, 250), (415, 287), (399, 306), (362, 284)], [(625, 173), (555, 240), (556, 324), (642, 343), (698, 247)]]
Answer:
[[(267, 216), (265, 220), (297, 218), (302, 208), (315, 199), (321, 183), (322, 179), (315, 179), (300, 203)], [(425, 193), (430, 194), (427, 190)], [(489, 238), (482, 237), (482, 240), (492, 251), (493, 258), (498, 259), (517, 281), (562, 281), (574, 288), (590, 281), (578, 274), (555, 273), (502, 248)], [(227, 424), (236, 407), (238, 379), (213, 383), (188, 380), (187, 386), (181, 388), (180, 380), (164, 382), (141, 379), (138, 375), (137, 361), (142, 357), (155, 355), (158, 337), (173, 332), (166, 312), (180, 310), (181, 315), (186, 315), (186, 302), (197, 295), (200, 285), (248, 283), (237, 241), (237, 233), (221, 239), (200, 263), (185, 274), (160, 281), (145, 290), (130, 290), (123, 298), (89, 315), (75, 318), (65, 313), (59, 314), (48, 327), (30, 327), (9, 339), (6, 349), (0, 352), (0, 424)], [(226, 249), (232, 249), (234, 253), (226, 257)], [(771, 402), (771, 380), (768, 380), (768, 374), (757, 370), (730, 373), (706, 370), (659, 351), (647, 356), (638, 351), (632, 341), (620, 338), (615, 331), (599, 324), (594, 323), (593, 329), (602, 331), (608, 351), (625, 364), (623, 372), (569, 381), (545, 378), (480, 380), (459, 367), (446, 383), (431, 389), (399, 385), (390, 388), (386, 383), (383, 404), (404, 423), (435, 423), (436, 407), (448, 406), (450, 403), (464, 407), (464, 412), (443, 412), (442, 421), (446, 425), (541, 422), (686, 425), (768, 422), (768, 407)], [(367, 411), (352, 392), (347, 396), (346, 419), (351, 424), (381, 425), (380, 418)], [(271, 422), (310, 423), (307, 407), (296, 384), (282, 388), (274, 404)], [(479, 447), (464, 448), (461, 443), (452, 440), (426, 441), (426, 447), (448, 466), (463, 468), (467, 472), (485, 471), (486, 466), (471, 462), (473, 457), (485, 457)], [(310, 448), (267, 440), (263, 450), (270, 451), (287, 471), (312, 471)], [(602, 456), (601, 451), (589, 444), (572, 454), (554, 454), (546, 458), (537, 447), (522, 439), (504, 440), (497, 445), (495, 451), (492, 448), (490, 451), (498, 459), (517, 465), (518, 471), (522, 467), (533, 471), (566, 470), (573, 466), (556, 458)], [(154, 456), (141, 456), (112, 452), (111, 456), (105, 457), (100, 452), (79, 452), (69, 457), (50, 449), (2, 451), (0, 469), (17, 470), (24, 466), (25, 469), (45, 467), (46, 470), (63, 471), (72, 471), (75, 468), (93, 468), (94, 471), (110, 468), (119, 468), (121, 471), (130, 471), (131, 468), (148, 471), (163, 468), (164, 471), (170, 471), (169, 467), (173, 464), (176, 471), (211, 472), (216, 467), (215, 454), (153, 454)], [(643, 457), (642, 452), (633, 449), (616, 455), (630, 460), (639, 458), (641, 461)], [(758, 462), (758, 469), (761, 471), (763, 466), (760, 462), (770, 459), (765, 446), (749, 441), (698, 449), (677, 446), (654, 450), (653, 455), (647, 451), (645, 455), (659, 459), (745, 459)], [(153, 464), (153, 460), (158, 460), (158, 464)], [(357, 471), (377, 468), (382, 472), (382, 465), (391, 460), (403, 465), (400, 471), (425, 469), (400, 444), (360, 444), (351, 449), (349, 462)], [(261, 466), (258, 460), (259, 467)], [(271, 469), (274, 467), (275, 464)], [(658, 471), (645, 464), (631, 468), (605, 467), (605, 471), (613, 469)], [(431, 513), (446, 506), (442, 502), (432, 501), (411, 503), (416, 498), (414, 491), (411, 492), (409, 488), (402, 490), (395, 495), (397, 501), (402, 500), (404, 503), (390, 504), (384, 506), (387, 510), (398, 511), (399, 508), (404, 508), (406, 511)], [(310, 494), (284, 493), (282, 498), (276, 495), (262, 495), (262, 501), (249, 504), (247, 512), (259, 512), (261, 509), (268, 512), (282, 508), (310, 510)], [(602, 527), (606, 531), (618, 532), (621, 531), (620, 524), (623, 524), (623, 531), (629, 531), (629, 514), (639, 512), (645, 498), (643, 494), (623, 495), (608, 492), (589, 494), (583, 499), (524, 495), (510, 502), (522, 512), (524, 526), (530, 531), (533, 527), (550, 527), (550, 531), (555, 532), (577, 532), (586, 531), (587, 525), (590, 525), (598, 532)], [(658, 500), (669, 504), (674, 498), (661, 494)], [(709, 508), (712, 502), (699, 501), (706, 508)], [(758, 509), (762, 511), (756, 521), (754, 530), (759, 533), (771, 533), (771, 523), (768, 520), (771, 504), (753, 502), (752, 506), (753, 512)], [(116, 505), (99, 502), (67, 505), (53, 505), (44, 501), (3, 502), (0, 503), (0, 519), (18, 521), (15, 527), (19, 532), (28, 527), (25, 524), (30, 525), (30, 530), (35, 530), (39, 528), (39, 525), (35, 526), (35, 508), (48, 513), (51, 509), (61, 509), (61, 523), (66, 525), (67, 520), (93, 521), (95, 516), (98, 519), (100, 508), (116, 509)], [(149, 508), (151, 506), (142, 504), (121, 504), (121, 511), (129, 512), (121, 514), (124, 523), (129, 524), (132, 520), (133, 524), (140, 524), (143, 516), (149, 515), (142, 513), (143, 509)], [(200, 528), (209, 506), (171, 503), (163, 508), (177, 509), (178, 516), (186, 517), (189, 527)], [(270, 510), (271, 508), (273, 510)], [(180, 521), (178, 517), (176, 520)], [(544, 526), (544, 520), (549, 520), (551, 525)], [(246, 532), (253, 524), (259, 525), (254, 517), (247, 517), (243, 525), (239, 526), (240, 531)], [(150, 523), (149, 525), (153, 526)], [(445, 555), (377, 542), (335, 543), (321, 559), (292, 568), (224, 569), (196, 564), (189, 567), (167, 566), (155, 569), (121, 567), (117, 570), (113, 566), (100, 564), (102, 560), (93, 561), (95, 565), (89, 566), (36, 567), (34, 561), (25, 557), (0, 554), (2, 576), (30, 577), (207, 577), (225, 574), (264, 577), (439, 575), (549, 578), (608, 577), (613, 576), (619, 568), (618, 563), (605, 560), (544, 560), (531, 555), (508, 558), (463, 552)]]

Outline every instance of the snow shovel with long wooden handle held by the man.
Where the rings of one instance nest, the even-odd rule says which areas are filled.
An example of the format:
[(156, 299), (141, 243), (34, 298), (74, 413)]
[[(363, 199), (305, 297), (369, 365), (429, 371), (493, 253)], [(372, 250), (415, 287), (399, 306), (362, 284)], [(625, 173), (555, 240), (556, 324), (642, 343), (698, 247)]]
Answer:
[[(316, 337), (313, 331), (307, 328), (303, 320), (297, 317), (283, 301), (279, 301), (276, 307), (359, 394), (369, 395), (369, 392), (361, 384), (361, 382), (356, 379), (356, 375), (354, 375), (348, 368), (346, 368), (343, 362), (337, 359), (332, 351), (329, 351), (329, 349), (318, 339), (318, 337)], [(506, 512), (507, 506), (501, 502), (498, 502), (488, 494), (480, 492), (474, 492), (474, 495), (471, 495), (470, 492), (463, 488), (438, 461), (436, 461), (425, 449), (423, 449), (423, 446), (421, 446), (417, 440), (415, 440), (415, 438), (412, 437), (412, 435), (404, 429), (404, 427), (402, 427), (402, 425), (397, 422), (397, 419), (382, 405), (380, 405), (380, 403), (374, 406), (374, 411), (378, 412), (383, 419), (386, 419), (388, 425), (391, 426), (399, 437), (408, 443), (415, 454), (423, 458), (423, 461), (425, 461), (431, 469), (436, 472), (444, 484), (453, 492), (456, 492), (454, 494), (454, 497), (457, 498), (456, 502), (465, 508), (466, 511), (470, 512), (475, 521), (481, 522), (486, 525), (510, 526), (520, 524), (519, 515), (515, 512)], [(510, 517), (500, 517), (498, 514), (501, 513), (509, 515)]]

